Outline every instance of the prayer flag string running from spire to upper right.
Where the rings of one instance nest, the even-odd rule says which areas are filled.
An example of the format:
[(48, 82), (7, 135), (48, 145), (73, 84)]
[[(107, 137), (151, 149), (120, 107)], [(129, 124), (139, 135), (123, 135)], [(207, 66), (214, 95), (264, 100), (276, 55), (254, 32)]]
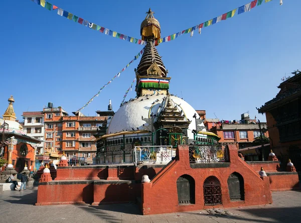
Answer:
[[(268, 2), (271, 2), (271, 1), (272, 0), (264, 0), (265, 3), (268, 3)], [(263, 0), (254, 0), (254, 1), (252, 1), (252, 2), (250, 2), (248, 4), (246, 4), (246, 5), (244, 5), (242, 7), (239, 7), (239, 8), (236, 8), (234, 10), (231, 10), (230, 12), (225, 13), (225, 14), (223, 14), (221, 16), (218, 16), (218, 17), (216, 17), (216, 18), (214, 18), (212, 20), (208, 20), (207, 22), (204, 22), (204, 23), (201, 23), (201, 24), (199, 24), (197, 26), (194, 26), (194, 27), (191, 27), (189, 29), (183, 30), (183, 31), (181, 31), (179, 33), (176, 33), (176, 34), (173, 34), (173, 35), (161, 38), (159, 40), (156, 40), (155, 44), (158, 45), (160, 43), (165, 43), (165, 42), (169, 42), (171, 40), (175, 40), (176, 38), (178, 38), (182, 34), (187, 34), (187, 33), (190, 33), (190, 36), (192, 37), (193, 34), (194, 34), (193, 31), (196, 30), (196, 29), (199, 29), (199, 34), (201, 34), (201, 32), (202, 32), (201, 30), (202, 30), (203, 27), (208, 27), (208, 26), (211, 26), (213, 24), (219, 23), (222, 20), (226, 20), (228, 18), (232, 18), (235, 15), (235, 13), (236, 13), (237, 10), (238, 10), (238, 15), (241, 14), (241, 13), (249, 12), (256, 5), (260, 6), (262, 2), (263, 2)], [(281, 5), (282, 5), (282, 1), (280, 0), (280, 6)]]

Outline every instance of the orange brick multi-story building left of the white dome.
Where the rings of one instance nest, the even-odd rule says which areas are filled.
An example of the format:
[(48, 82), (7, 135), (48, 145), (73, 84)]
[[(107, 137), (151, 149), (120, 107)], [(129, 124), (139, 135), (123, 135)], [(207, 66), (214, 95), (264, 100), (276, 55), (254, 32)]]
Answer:
[[(110, 105), (109, 105), (110, 106)], [(94, 135), (104, 135), (111, 110), (96, 111), (97, 116), (84, 116), (80, 112), (69, 116), (62, 107), (52, 103), (43, 109), (45, 122), (45, 149), (55, 148), (59, 154), (65, 152), (74, 165), (92, 164), (96, 153)]]

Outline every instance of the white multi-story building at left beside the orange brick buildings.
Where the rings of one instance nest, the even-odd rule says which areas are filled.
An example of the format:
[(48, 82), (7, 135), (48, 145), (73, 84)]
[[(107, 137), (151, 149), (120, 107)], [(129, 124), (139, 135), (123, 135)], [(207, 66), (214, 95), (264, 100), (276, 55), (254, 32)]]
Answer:
[(43, 111), (24, 111), (24, 132), (27, 136), (41, 140), (37, 146), (37, 154), (44, 153), (44, 113)]

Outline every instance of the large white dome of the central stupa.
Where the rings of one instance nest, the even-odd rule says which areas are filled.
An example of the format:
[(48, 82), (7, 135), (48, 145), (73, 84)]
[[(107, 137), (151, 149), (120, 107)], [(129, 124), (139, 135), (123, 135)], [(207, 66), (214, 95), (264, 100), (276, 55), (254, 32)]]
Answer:
[[(132, 101), (124, 103), (113, 116), (108, 127), (107, 134), (122, 131), (132, 131), (132, 129), (137, 130), (137, 128), (139, 130), (145, 129), (148, 124), (146, 124), (146, 122), (142, 120), (142, 117), (143, 119), (151, 118), (151, 113), (158, 117), (161, 110), (164, 108), (165, 103), (167, 102), (166, 100), (164, 100), (164, 98), (166, 98), (166, 95), (155, 94), (147, 97), (140, 96)], [(193, 116), (194, 114), (197, 114), (196, 110), (185, 100), (177, 96), (170, 96), (170, 99), (173, 106), (177, 105), (178, 111), (183, 110), (185, 120), (189, 119), (191, 121), (189, 130), (194, 130), (196, 128), (196, 124)], [(157, 121), (157, 117), (154, 118), (154, 123)], [(198, 114), (197, 118), (199, 118)], [(204, 124), (202, 124), (201, 126), (204, 127)], [(202, 131), (206, 131), (205, 127)], [(193, 133), (191, 131), (188, 131), (188, 137), (190, 139), (193, 139)]]

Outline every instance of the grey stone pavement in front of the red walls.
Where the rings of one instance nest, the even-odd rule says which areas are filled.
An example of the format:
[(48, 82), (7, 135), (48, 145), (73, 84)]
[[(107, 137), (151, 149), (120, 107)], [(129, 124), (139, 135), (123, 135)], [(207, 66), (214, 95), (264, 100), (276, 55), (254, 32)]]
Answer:
[(301, 222), (301, 191), (273, 192), (271, 205), (141, 215), (134, 203), (35, 206), (37, 189), (0, 192), (0, 222)]

